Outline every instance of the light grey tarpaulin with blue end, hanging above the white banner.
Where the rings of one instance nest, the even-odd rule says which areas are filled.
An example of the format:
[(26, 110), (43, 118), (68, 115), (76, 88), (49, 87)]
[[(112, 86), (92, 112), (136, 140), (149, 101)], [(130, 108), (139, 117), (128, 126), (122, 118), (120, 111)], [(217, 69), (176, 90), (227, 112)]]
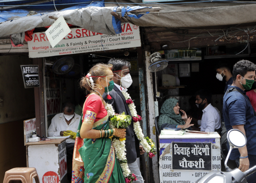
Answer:
[(36, 27), (46, 27), (50, 26), (53, 23), (53, 20), (50, 19), (50, 16), (60, 17), (61, 15), (65, 18), (68, 24), (74, 26), (83, 27), (92, 32), (98, 32), (102, 34), (115, 35), (120, 34), (121, 22), (118, 19), (115, 19), (110, 12), (116, 12), (120, 16), (126, 14), (127, 17), (133, 19), (140, 18), (143, 14), (131, 14), (129, 13), (132, 10), (138, 10), (142, 6), (133, 6), (133, 7), (96, 7), (90, 6), (87, 8), (81, 8), (76, 10), (64, 10), (60, 12), (51, 12), (48, 14), (43, 14), (41, 16), (26, 16), (18, 18), (15, 20), (7, 21), (0, 24), (0, 37), (8, 36), (11, 34), (26, 32), (32, 30)]

